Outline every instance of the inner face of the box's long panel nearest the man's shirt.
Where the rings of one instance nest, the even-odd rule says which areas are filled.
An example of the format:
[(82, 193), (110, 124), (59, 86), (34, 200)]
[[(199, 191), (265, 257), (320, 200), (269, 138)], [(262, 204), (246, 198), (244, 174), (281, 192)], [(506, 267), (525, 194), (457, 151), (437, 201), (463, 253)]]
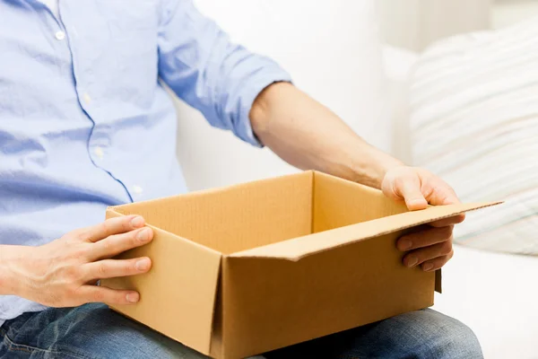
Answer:
[(115, 207), (227, 254), (311, 231), (311, 171)]

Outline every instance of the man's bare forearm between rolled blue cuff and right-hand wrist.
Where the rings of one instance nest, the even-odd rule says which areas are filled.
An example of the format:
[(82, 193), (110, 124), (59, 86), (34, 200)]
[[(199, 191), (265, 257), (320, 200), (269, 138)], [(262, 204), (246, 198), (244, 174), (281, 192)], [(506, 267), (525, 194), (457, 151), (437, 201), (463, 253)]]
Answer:
[(303, 170), (380, 188), (386, 171), (403, 164), (367, 144), (332, 111), (291, 83), (267, 87), (257, 97), (250, 118), (263, 144)]

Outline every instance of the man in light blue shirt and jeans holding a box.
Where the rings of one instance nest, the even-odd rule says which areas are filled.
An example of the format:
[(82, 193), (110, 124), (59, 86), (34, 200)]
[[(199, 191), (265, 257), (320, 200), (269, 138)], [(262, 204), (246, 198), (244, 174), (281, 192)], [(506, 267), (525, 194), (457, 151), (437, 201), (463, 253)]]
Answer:
[[(103, 304), (139, 293), (96, 285), (152, 266), (111, 259), (152, 231), (140, 216), (102, 223), (105, 208), (187, 191), (159, 78), (213, 126), (299, 168), (382, 188), (412, 210), (457, 201), (428, 171), (362, 141), (272, 60), (231, 44), (191, 0), (0, 0), (1, 357), (201, 357)], [(403, 265), (442, 267), (463, 219), (401, 238)], [(469, 328), (425, 310), (266, 357), (482, 352)]]

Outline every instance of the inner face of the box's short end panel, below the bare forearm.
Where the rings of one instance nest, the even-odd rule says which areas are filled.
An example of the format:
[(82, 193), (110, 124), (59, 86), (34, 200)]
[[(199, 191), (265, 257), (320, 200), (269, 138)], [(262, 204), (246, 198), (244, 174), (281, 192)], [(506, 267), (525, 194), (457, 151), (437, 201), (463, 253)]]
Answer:
[(322, 232), (354, 223), (407, 212), (377, 189), (321, 172), (314, 174), (313, 231)]

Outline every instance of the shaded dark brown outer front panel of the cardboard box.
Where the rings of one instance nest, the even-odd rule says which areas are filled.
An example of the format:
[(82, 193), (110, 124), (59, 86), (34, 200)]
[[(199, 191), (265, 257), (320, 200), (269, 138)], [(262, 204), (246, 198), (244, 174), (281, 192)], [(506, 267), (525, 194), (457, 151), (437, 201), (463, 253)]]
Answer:
[(432, 305), (435, 274), (402, 265), (400, 234), (297, 262), (224, 258), (226, 354), (256, 355)]

